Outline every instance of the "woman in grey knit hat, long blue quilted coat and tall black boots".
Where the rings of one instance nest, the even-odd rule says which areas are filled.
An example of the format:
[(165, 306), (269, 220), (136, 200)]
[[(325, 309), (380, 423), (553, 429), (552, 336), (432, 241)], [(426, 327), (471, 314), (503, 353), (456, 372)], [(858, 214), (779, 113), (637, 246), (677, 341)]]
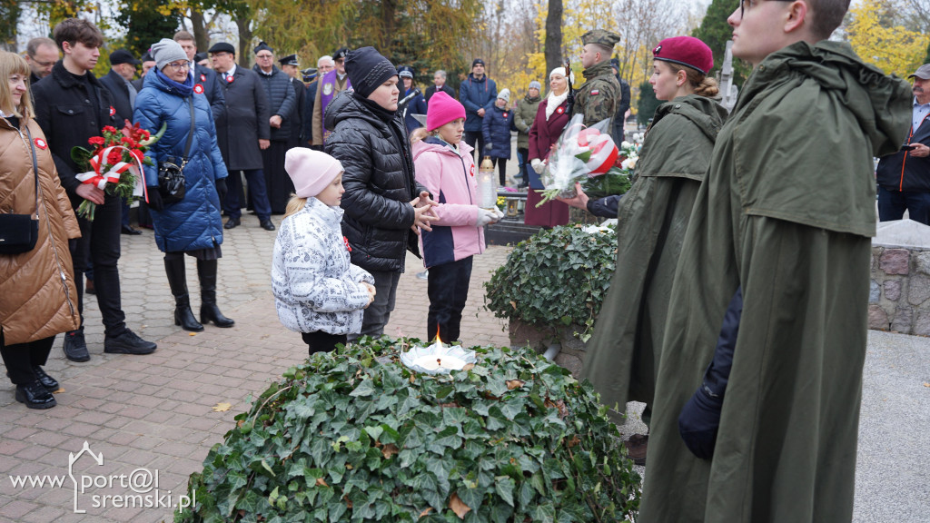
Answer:
[[(180, 45), (163, 38), (152, 47), (155, 69), (146, 74), (136, 98), (134, 113), (140, 127), (155, 133), (167, 124), (165, 135), (146, 153), (155, 165), (168, 156), (184, 157), (193, 130), (190, 152), (184, 165), (184, 198), (166, 205), (158, 193), (158, 168), (145, 167), (145, 184), (155, 229), (155, 244), (165, 253), (165, 272), (175, 298), (175, 325), (199, 332), (202, 323), (233, 327), (232, 319), (217, 307), (217, 261), (223, 243), (219, 201), (226, 194), (226, 166), (219, 154), (213, 114), (203, 87), (195, 86), (190, 62)], [(192, 112), (193, 104), (193, 112)], [(193, 124), (191, 117), (193, 115)], [(184, 275), (184, 255), (197, 260), (200, 279), (200, 322), (191, 311)]]

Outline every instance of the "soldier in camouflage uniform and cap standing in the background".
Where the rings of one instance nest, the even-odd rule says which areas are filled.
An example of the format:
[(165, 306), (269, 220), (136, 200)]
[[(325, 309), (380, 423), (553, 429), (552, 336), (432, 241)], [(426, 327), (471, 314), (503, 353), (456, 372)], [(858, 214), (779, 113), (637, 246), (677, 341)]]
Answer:
[(620, 103), (620, 84), (610, 68), (610, 55), (620, 41), (616, 33), (595, 29), (581, 36), (584, 50), (581, 66), (584, 67), (585, 83), (575, 94), (575, 114), (584, 114), (584, 125), (592, 126), (601, 120), (611, 120)]

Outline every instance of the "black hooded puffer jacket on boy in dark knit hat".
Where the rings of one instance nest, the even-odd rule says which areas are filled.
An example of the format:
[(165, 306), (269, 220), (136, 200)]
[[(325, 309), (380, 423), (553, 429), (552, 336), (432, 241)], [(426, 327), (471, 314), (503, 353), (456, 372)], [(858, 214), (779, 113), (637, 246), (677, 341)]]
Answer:
[(368, 271), (404, 272), (405, 251), (419, 256), (410, 200), (426, 188), (414, 178), (413, 154), (404, 122), (390, 126), (354, 91), (342, 91), (326, 107), (326, 153), (342, 163), (342, 234), (352, 247), (352, 263)]

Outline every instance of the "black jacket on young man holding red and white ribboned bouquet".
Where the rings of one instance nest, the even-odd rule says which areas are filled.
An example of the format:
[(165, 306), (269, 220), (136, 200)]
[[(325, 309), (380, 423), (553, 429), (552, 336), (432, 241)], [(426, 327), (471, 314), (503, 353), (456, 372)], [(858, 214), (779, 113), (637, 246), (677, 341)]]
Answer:
[[(84, 170), (78, 168), (71, 159), (71, 148), (81, 145), (88, 150), (92, 149), (87, 139), (100, 136), (103, 127), (116, 127), (113, 95), (94, 74), (87, 73), (87, 79), (94, 91), (92, 93), (88, 93), (86, 84), (75, 80), (59, 60), (52, 67), (52, 73), (33, 86), (35, 121), (46, 134), (61, 186), (67, 191), (74, 207), (84, 201), (84, 198), (74, 193), (81, 184), (74, 175)], [(96, 101), (91, 102), (92, 96)], [(94, 112), (95, 107), (97, 113)]]

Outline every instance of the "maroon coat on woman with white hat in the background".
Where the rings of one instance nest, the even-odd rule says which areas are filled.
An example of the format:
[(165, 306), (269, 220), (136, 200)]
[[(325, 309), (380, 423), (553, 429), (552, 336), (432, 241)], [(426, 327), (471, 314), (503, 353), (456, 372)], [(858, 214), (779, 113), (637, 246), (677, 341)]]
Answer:
[[(549, 105), (549, 98), (543, 99), (539, 103), (536, 111), (536, 118), (533, 119), (533, 125), (529, 128), (529, 161), (532, 162), (538, 158), (544, 160), (549, 157), (552, 145), (559, 140), (562, 130), (568, 124), (568, 114), (565, 114), (567, 102), (563, 101), (561, 105), (555, 108), (555, 111), (546, 120), (546, 107)], [(528, 170), (532, 171), (533, 168)], [(541, 227), (554, 227), (556, 225), (565, 225), (568, 223), (568, 206), (562, 202), (551, 201), (542, 207), (536, 207), (542, 197), (534, 188), (540, 187), (539, 177), (530, 172), (530, 190), (526, 194), (526, 210), (524, 222), (527, 225), (538, 225)]]

